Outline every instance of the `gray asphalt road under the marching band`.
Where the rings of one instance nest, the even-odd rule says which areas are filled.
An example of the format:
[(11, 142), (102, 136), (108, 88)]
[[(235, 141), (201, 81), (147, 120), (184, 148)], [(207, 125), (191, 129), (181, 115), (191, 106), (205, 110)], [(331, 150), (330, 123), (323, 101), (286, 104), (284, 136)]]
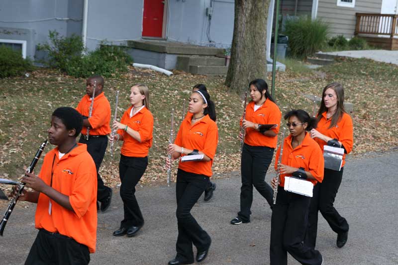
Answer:
[[(350, 225), (348, 242), (338, 249), (336, 234), (319, 215), (316, 248), (325, 265), (398, 264), (397, 172), (398, 151), (348, 157), (335, 201)], [(273, 176), (269, 172), (266, 180)], [(266, 200), (254, 191), (251, 222), (231, 225), (239, 210), (240, 174), (214, 181), (213, 198), (204, 202), (202, 196), (192, 210), (212, 238), (208, 257), (201, 264), (269, 264), (271, 209)], [(123, 216), (118, 189), (114, 189), (111, 206), (98, 215), (97, 251), (90, 264), (166, 265), (175, 257), (175, 186), (137, 187), (136, 196), (145, 218), (142, 230), (132, 238), (112, 236)], [(12, 213), (0, 238), (0, 265), (24, 263), (37, 234), (34, 211), (30, 206)], [(289, 256), (289, 264), (298, 262)]]

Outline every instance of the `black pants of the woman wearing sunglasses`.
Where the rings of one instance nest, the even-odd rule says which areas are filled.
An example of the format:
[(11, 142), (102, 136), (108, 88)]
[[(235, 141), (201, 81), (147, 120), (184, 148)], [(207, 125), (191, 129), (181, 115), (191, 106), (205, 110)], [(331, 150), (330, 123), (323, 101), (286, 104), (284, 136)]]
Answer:
[(319, 251), (303, 243), (307, 228), (310, 197), (278, 187), (277, 203), (272, 209), (270, 264), (287, 265), (289, 252), (299, 263), (320, 265)]

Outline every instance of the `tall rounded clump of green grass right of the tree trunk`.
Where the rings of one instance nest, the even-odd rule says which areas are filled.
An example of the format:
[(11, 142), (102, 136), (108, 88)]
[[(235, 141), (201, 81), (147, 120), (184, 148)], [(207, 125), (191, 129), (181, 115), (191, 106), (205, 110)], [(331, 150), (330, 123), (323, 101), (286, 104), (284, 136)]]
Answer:
[(319, 51), (326, 43), (329, 26), (320, 19), (301, 16), (286, 21), (285, 34), (289, 37), (290, 54), (307, 57)]

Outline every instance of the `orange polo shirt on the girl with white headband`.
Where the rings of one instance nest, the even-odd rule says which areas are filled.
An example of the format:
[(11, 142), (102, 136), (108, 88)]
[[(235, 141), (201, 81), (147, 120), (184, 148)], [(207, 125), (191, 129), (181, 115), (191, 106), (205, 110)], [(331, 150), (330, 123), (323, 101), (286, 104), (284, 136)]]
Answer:
[[(210, 177), (212, 175), (211, 166), (217, 149), (218, 128), (217, 124), (210, 119), (208, 115), (197, 121), (194, 125), (191, 123), (192, 117), (188, 116), (181, 123), (176, 140), (174, 143), (186, 149), (197, 149), (208, 156), (210, 161), (191, 161), (181, 162), (178, 168), (199, 175)], [(185, 155), (182, 155), (185, 156)]]

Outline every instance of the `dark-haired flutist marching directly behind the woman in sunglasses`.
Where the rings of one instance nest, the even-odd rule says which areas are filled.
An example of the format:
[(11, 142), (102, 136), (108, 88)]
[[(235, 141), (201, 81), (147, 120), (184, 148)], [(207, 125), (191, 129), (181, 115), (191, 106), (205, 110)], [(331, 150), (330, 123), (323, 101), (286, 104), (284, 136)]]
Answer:
[[(265, 182), (265, 175), (277, 145), (277, 134), (281, 122), (281, 111), (268, 92), (268, 85), (262, 79), (256, 79), (249, 84), (252, 101), (246, 106), (246, 119), (241, 120), (246, 130), (241, 159), (242, 186), (240, 188), (240, 211), (231, 220), (238, 225), (250, 222), (253, 201), (253, 186), (266, 198), (272, 206), (273, 190)], [(260, 130), (262, 124), (277, 124), (276, 128)], [(242, 133), (239, 132), (239, 138)]]

